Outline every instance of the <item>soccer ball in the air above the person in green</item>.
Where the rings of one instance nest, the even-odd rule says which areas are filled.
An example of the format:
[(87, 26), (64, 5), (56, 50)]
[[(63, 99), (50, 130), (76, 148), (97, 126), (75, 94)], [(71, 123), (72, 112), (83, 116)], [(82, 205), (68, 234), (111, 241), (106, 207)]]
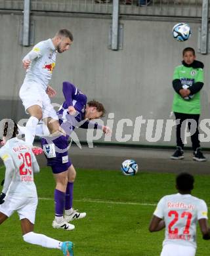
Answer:
[(177, 41), (186, 41), (191, 35), (190, 26), (186, 23), (178, 23), (173, 27), (172, 33)]

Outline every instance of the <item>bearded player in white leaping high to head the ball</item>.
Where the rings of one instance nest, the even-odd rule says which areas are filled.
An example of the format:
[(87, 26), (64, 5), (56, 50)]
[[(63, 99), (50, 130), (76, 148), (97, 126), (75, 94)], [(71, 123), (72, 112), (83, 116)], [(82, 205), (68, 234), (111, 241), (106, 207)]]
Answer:
[(35, 128), (40, 119), (46, 121), (51, 133), (60, 130), (58, 117), (49, 98), (56, 95), (56, 91), (49, 86), (49, 81), (55, 67), (56, 53), (67, 51), (73, 40), (69, 30), (59, 30), (53, 39), (37, 43), (22, 60), (26, 77), (19, 95), (26, 113), (30, 114), (24, 131), (25, 141), (30, 145), (33, 144)]

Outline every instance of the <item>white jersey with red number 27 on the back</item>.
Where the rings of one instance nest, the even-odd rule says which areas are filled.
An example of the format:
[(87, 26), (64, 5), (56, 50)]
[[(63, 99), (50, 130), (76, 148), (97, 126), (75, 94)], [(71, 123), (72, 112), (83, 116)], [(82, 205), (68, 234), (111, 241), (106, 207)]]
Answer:
[(207, 219), (206, 203), (190, 194), (164, 196), (154, 215), (165, 221), (165, 244), (196, 247), (196, 224)]

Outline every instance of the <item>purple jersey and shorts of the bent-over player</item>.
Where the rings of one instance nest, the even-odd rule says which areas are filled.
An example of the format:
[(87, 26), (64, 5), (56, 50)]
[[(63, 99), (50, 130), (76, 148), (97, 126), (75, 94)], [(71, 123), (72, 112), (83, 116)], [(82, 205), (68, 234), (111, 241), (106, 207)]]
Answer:
[[(41, 140), (41, 146), (47, 157), (47, 165), (52, 167), (53, 173), (66, 171), (72, 165), (68, 158), (68, 137), (75, 127), (102, 129), (101, 125), (85, 120), (87, 96), (84, 93), (79, 91), (72, 83), (65, 81), (63, 82), (63, 94), (65, 101), (57, 114), (60, 127), (64, 129), (67, 136), (54, 138), (49, 136)], [(68, 113), (69, 106), (74, 106), (77, 110), (76, 116)]]

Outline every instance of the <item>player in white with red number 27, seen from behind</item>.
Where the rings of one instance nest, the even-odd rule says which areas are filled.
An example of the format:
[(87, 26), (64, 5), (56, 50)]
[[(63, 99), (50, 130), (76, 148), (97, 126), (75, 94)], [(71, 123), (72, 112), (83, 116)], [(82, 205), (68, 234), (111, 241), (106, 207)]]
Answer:
[(165, 240), (161, 256), (196, 255), (196, 224), (200, 224), (203, 239), (210, 239), (207, 223), (207, 205), (194, 196), (194, 177), (188, 173), (177, 176), (178, 194), (163, 196), (152, 217), (149, 230), (165, 228)]

